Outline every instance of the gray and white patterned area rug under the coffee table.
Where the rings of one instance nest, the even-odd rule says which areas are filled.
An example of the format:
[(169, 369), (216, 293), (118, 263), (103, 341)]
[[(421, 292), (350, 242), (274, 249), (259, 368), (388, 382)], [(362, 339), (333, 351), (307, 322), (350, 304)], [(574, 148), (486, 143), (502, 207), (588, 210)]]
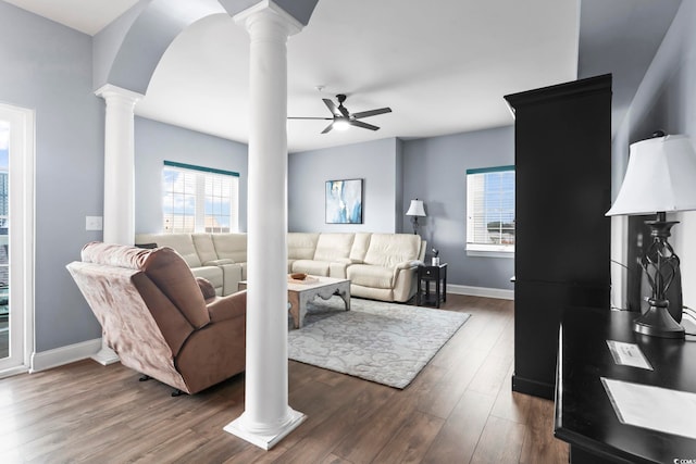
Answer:
[(308, 305), (302, 328), (288, 333), (291, 360), (406, 388), (469, 314), (353, 298)]

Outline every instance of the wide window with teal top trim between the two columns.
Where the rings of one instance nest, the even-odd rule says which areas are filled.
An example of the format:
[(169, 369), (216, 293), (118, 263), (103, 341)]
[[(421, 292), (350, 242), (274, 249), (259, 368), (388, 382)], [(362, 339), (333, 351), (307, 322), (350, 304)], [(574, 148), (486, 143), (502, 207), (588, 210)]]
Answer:
[(164, 162), (165, 233), (229, 233), (239, 229), (239, 174)]

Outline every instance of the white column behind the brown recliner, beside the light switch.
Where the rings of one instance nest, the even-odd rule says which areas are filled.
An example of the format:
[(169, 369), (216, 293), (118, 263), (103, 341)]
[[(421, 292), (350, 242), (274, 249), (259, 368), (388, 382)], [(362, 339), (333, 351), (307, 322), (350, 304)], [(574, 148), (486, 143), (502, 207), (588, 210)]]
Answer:
[[(135, 240), (135, 104), (140, 93), (107, 84), (97, 90), (107, 102), (104, 129), (103, 241), (133, 244)], [(92, 360), (107, 365), (119, 356), (107, 344)]]

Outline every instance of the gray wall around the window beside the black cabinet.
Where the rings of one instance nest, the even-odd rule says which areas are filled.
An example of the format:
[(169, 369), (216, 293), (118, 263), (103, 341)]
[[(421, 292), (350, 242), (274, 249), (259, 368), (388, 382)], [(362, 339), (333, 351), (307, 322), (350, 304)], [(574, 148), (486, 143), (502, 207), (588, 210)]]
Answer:
[[(513, 126), (403, 142), (402, 211), (423, 200), (427, 217), (421, 236), (440, 251), (447, 281), (462, 286), (512, 289), (514, 260), (468, 256), (467, 170), (514, 164)], [(401, 216), (403, 230), (411, 223)]]

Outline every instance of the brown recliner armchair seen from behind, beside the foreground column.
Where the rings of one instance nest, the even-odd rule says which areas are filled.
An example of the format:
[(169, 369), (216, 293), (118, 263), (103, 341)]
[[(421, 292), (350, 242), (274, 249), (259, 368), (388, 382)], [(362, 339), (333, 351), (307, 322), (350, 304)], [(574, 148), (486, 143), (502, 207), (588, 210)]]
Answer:
[(173, 249), (91, 242), (66, 267), (123, 365), (190, 394), (245, 369), (246, 291), (208, 293)]

